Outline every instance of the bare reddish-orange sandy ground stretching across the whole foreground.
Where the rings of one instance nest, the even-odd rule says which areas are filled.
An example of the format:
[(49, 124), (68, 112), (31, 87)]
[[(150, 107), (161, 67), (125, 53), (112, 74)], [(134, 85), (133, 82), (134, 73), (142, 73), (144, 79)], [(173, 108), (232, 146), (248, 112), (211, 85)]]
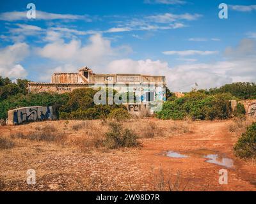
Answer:
[[(159, 126), (173, 127), (172, 120), (156, 120)], [(139, 120), (148, 122), (148, 120)], [(72, 123), (72, 122), (70, 122)], [(175, 124), (182, 124), (178, 121)], [(237, 136), (228, 131), (231, 120), (191, 122), (191, 131), (140, 139), (141, 147), (106, 150), (61, 147), (49, 142), (15, 139), (15, 147), (0, 150), (0, 189), (2, 191), (147, 191), (159, 190), (163, 180), (178, 182), (186, 191), (255, 191), (256, 164), (237, 159), (233, 145)], [(65, 121), (35, 122), (20, 126), (1, 126), (1, 136), (24, 133), (44, 124), (61, 129)], [(100, 123), (97, 125), (100, 131)], [(66, 127), (67, 128), (67, 127)], [(65, 128), (64, 128), (65, 129)], [(104, 127), (102, 126), (102, 131)], [(67, 128), (68, 137), (83, 135)], [(189, 157), (166, 156), (173, 150)], [(198, 154), (203, 152), (202, 154)], [(197, 153), (195, 153), (197, 152)], [(207, 153), (209, 152), (209, 153)], [(233, 159), (230, 168), (207, 163), (204, 154)], [(28, 169), (36, 171), (36, 184), (26, 182)], [(220, 185), (219, 170), (227, 169), (228, 184)], [(180, 173), (177, 173), (180, 172)], [(172, 176), (170, 176), (172, 175)]]

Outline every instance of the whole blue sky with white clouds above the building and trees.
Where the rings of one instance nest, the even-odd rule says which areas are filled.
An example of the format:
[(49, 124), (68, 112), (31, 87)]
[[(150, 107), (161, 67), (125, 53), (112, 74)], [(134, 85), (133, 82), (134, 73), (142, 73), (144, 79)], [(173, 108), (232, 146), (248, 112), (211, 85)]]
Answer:
[[(28, 19), (28, 3), (36, 19)], [(228, 18), (220, 19), (220, 3)], [(255, 1), (1, 1), (0, 75), (165, 75), (172, 91), (256, 81)]]

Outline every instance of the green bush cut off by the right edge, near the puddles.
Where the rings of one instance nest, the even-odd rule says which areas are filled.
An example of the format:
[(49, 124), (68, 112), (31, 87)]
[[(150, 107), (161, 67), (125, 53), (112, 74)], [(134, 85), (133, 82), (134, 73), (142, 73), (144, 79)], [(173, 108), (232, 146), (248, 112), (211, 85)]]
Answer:
[(256, 122), (249, 126), (234, 146), (234, 153), (240, 158), (256, 157)]

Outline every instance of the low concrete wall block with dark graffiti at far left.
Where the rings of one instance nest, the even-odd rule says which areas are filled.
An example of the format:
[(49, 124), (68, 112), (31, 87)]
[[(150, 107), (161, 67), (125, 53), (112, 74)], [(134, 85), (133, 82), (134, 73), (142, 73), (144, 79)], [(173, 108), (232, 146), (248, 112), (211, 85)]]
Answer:
[(36, 120), (56, 120), (54, 106), (31, 106), (8, 111), (8, 125)]

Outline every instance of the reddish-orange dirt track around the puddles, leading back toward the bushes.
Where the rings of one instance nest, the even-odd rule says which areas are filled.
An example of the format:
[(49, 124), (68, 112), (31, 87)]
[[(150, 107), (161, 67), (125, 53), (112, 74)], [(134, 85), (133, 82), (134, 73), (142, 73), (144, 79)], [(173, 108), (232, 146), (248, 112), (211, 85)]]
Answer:
[[(143, 166), (162, 166), (172, 172), (181, 171), (182, 176), (189, 179), (188, 189), (208, 191), (255, 191), (256, 166), (239, 161), (233, 154), (236, 138), (227, 131), (230, 121), (194, 122), (193, 133), (170, 138), (161, 138), (144, 142), (140, 151), (140, 162)], [(167, 157), (164, 152), (173, 150), (188, 155), (185, 158)], [(199, 150), (199, 151), (198, 151)], [(193, 154), (194, 152), (194, 154)], [(226, 168), (218, 164), (205, 162), (203, 154), (225, 155), (233, 159), (234, 166)], [(205, 153), (206, 152), (206, 153)], [(219, 170), (227, 169), (228, 184), (220, 185)], [(253, 185), (254, 184), (254, 185)]]

